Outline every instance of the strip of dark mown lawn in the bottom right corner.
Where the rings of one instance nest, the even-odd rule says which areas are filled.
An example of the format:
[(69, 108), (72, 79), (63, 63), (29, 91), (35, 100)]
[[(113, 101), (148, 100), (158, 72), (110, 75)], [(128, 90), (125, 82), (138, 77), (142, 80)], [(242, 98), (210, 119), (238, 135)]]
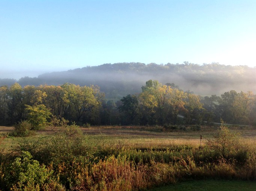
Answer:
[(255, 191), (252, 181), (187, 181), (174, 185), (153, 188), (148, 191)]

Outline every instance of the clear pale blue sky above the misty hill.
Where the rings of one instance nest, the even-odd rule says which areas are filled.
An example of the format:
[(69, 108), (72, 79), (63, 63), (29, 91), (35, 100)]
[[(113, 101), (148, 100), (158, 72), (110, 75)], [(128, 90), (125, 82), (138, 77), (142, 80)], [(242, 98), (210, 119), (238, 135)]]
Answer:
[(104, 63), (256, 66), (256, 0), (0, 0), (0, 78)]

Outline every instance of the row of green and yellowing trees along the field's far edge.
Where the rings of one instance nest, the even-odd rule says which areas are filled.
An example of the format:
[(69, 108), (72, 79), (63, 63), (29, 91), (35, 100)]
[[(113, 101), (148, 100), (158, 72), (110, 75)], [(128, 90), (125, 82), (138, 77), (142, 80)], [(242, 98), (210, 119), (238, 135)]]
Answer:
[(219, 122), (255, 125), (256, 96), (234, 90), (201, 97), (174, 84), (149, 80), (142, 92), (107, 100), (98, 86), (0, 87), (0, 125), (28, 120), (34, 129), (51, 116), (79, 125), (178, 125)]

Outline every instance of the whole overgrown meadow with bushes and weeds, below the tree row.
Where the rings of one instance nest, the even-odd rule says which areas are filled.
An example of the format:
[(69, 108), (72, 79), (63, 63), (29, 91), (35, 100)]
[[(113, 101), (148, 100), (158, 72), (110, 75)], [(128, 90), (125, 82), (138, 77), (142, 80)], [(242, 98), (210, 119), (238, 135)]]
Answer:
[[(229, 190), (236, 181), (250, 184), (256, 180), (256, 128), (227, 129), (221, 135), (219, 126), (68, 125), (13, 137), (13, 127), (1, 126), (0, 190), (184, 190), (219, 180), (231, 181), (223, 186)], [(226, 153), (209, 142), (216, 135), (234, 139), (232, 147), (224, 145)]]

